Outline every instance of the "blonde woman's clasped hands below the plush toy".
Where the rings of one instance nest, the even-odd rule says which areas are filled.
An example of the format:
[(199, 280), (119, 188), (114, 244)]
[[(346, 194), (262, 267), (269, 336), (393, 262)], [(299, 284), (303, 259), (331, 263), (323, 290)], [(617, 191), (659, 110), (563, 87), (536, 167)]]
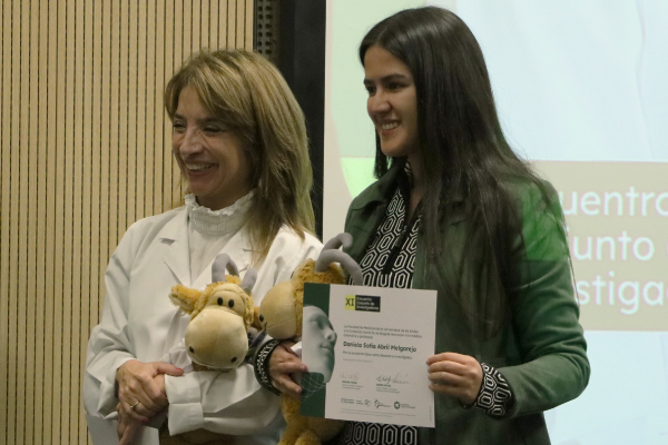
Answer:
[(128, 360), (119, 366), (116, 372), (119, 445), (129, 444), (139, 426), (169, 405), (166, 374), (180, 376), (184, 372), (165, 362)]

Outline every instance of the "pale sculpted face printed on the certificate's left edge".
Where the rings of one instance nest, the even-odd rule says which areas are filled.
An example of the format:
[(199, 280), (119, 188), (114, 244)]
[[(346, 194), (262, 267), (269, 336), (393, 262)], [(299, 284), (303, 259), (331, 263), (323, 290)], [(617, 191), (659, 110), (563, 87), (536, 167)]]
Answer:
[(305, 306), (303, 314), (302, 338), (308, 339), (302, 344), (304, 347), (303, 356), (313, 359), (308, 363), (308, 372), (320, 373), (324, 376), (325, 382), (330, 382), (334, 370), (336, 333), (323, 309), (315, 306)]

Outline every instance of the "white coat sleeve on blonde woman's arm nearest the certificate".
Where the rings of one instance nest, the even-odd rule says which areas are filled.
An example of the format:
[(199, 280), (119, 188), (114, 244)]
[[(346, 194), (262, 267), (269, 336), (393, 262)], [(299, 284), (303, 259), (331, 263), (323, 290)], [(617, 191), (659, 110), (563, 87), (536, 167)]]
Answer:
[[(305, 258), (315, 258), (321, 243), (306, 237), (302, 243), (292, 233), (281, 231), (258, 269), (253, 298), (258, 305), (269, 288), (289, 279)], [(243, 364), (230, 372), (195, 372), (180, 377), (165, 376), (169, 399), (169, 433), (191, 429), (256, 435), (276, 428), (281, 415), (278, 397), (255, 379), (253, 366)]]

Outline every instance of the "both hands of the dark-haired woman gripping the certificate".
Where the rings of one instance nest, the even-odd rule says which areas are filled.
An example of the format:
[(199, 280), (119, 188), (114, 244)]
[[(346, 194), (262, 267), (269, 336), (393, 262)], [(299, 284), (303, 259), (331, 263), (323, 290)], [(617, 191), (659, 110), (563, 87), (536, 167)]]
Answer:
[[(291, 349), (292, 342), (282, 342), (269, 357), (272, 385), (281, 393), (298, 398), (302, 387), (292, 379), (292, 374), (307, 372), (306, 365)], [(442, 353), (426, 359), (430, 385), (434, 393), (456, 397), (462, 404), (475, 402), (482, 385), (482, 367), (469, 355)]]

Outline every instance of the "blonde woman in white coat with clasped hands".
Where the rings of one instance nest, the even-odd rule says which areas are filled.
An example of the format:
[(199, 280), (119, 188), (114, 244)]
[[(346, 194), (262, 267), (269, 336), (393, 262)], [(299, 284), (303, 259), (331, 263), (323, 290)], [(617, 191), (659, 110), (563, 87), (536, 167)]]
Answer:
[(178, 357), (189, 317), (168, 294), (176, 284), (204, 288), (225, 251), (242, 276), (257, 270), (259, 304), (317, 255), (304, 117), (276, 68), (242, 50), (191, 57), (169, 81), (165, 106), (188, 195), (185, 206), (135, 222), (109, 260), (86, 362), (89, 429), (96, 444), (116, 443), (116, 432), (121, 443), (275, 443), (277, 398), (250, 365), (175, 366), (185, 368)]

